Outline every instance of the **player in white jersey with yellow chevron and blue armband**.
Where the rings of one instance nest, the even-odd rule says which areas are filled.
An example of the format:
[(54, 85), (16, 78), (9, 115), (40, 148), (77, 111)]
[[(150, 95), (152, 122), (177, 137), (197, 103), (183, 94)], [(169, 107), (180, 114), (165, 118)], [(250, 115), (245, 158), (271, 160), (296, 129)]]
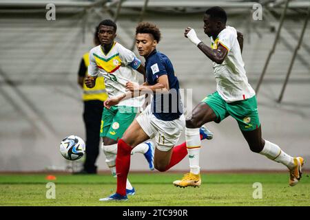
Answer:
[[(108, 96), (121, 96), (126, 93), (125, 85), (128, 81), (138, 83), (137, 71), (145, 74), (141, 61), (133, 52), (127, 50), (123, 45), (114, 41), (116, 37), (116, 24), (111, 20), (99, 23), (98, 45), (90, 50), (89, 76), (85, 79), (87, 87), (94, 87), (96, 77), (101, 74), (105, 78), (105, 89)], [(109, 166), (112, 175), (116, 177), (116, 153), (118, 139), (136, 117), (138, 109), (143, 104), (143, 97), (124, 100), (110, 109), (104, 108), (101, 120), (101, 137), (103, 137), (103, 152), (105, 162)], [(143, 153), (149, 169), (154, 170), (154, 146), (152, 142), (142, 143), (133, 153)], [(130, 182), (127, 180), (127, 195), (134, 194)]]

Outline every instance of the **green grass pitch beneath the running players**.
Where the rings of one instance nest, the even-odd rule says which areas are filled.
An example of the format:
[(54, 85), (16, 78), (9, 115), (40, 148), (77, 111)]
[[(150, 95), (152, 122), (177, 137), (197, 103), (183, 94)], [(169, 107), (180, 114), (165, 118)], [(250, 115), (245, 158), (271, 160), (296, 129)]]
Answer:
[[(176, 188), (177, 173), (132, 173), (136, 195), (101, 202), (116, 189), (111, 175), (56, 175), (55, 199), (47, 199), (46, 175), (0, 175), (0, 206), (309, 206), (310, 179), (304, 173), (289, 187), (288, 173), (203, 174), (200, 188)], [(262, 199), (254, 199), (262, 184)]]

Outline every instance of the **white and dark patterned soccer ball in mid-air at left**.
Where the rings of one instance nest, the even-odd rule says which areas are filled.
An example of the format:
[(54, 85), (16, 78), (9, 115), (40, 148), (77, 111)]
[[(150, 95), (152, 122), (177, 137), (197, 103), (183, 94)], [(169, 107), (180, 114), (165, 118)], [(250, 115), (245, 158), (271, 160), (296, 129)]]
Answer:
[(81, 137), (70, 135), (61, 141), (60, 151), (65, 159), (80, 159), (85, 153), (85, 142)]

